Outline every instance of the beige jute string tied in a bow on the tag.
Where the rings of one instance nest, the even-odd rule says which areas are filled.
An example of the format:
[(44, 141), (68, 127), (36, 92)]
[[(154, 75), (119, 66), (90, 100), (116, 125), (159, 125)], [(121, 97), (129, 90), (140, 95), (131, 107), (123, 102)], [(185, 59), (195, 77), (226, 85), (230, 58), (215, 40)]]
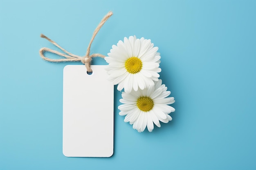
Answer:
[[(59, 49), (61, 49), (63, 52), (65, 52), (65, 54), (52, 50), (50, 48), (46, 48), (43, 47), (39, 50), (39, 54), (40, 56), (46, 60), (46, 61), (50, 61), (50, 62), (65, 62), (65, 61), (81, 61), (81, 63), (85, 64), (85, 67), (87, 69), (87, 72), (92, 72), (92, 69), (90, 67), (91, 61), (92, 61), (92, 57), (106, 57), (103, 54), (91, 54), (90, 55), (90, 48), (92, 45), (92, 41), (94, 40), (95, 36), (97, 35), (97, 33), (99, 32), (99, 30), (101, 29), (101, 27), (103, 26), (103, 24), (108, 20), (109, 17), (111, 17), (113, 13), (110, 11), (108, 12), (107, 15), (105, 15), (105, 17), (103, 17), (103, 19), (101, 20), (101, 22), (99, 23), (99, 25), (97, 26), (97, 28), (94, 30), (93, 35), (92, 35), (92, 39), (89, 43), (89, 46), (87, 48), (86, 54), (83, 57), (77, 56), (75, 54), (72, 54), (70, 52), (68, 52), (67, 50), (65, 50), (64, 48), (62, 48), (61, 46), (59, 46), (56, 42), (52, 41), (51, 39), (49, 39), (48, 37), (46, 37), (45, 35), (41, 34), (40, 37), (47, 39), (48, 41), (50, 41), (52, 44), (54, 44), (54, 46), (58, 47)], [(63, 59), (49, 59), (47, 57), (44, 56), (44, 52), (51, 52), (53, 54), (57, 54), (59, 56), (64, 57)]]

